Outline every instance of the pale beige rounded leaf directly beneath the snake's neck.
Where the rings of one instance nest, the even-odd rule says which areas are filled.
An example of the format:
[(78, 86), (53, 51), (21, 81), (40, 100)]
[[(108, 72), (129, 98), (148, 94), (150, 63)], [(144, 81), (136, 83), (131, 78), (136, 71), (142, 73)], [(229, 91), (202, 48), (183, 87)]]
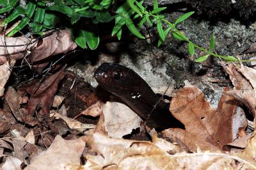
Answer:
[(129, 107), (118, 102), (106, 102), (103, 105), (104, 125), (110, 137), (122, 137), (132, 129), (140, 127), (140, 116)]

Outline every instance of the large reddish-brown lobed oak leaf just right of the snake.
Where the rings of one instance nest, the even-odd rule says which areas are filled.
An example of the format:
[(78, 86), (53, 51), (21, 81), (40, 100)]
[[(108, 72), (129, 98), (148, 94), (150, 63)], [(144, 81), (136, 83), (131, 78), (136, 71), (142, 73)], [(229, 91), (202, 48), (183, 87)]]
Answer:
[[(228, 88), (225, 89), (228, 91)], [(180, 120), (186, 130), (170, 128), (163, 134), (180, 139), (189, 150), (220, 150), (231, 143), (232, 116), (236, 111), (234, 98), (223, 93), (216, 111), (196, 86), (185, 86), (175, 93), (170, 104), (173, 116)]]

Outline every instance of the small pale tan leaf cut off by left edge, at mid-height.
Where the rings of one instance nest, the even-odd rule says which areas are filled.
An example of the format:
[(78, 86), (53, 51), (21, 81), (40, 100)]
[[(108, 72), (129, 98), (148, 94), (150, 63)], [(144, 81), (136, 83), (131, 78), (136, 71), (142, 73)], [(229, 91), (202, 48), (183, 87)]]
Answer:
[(15, 60), (11, 59), (10, 64), (11, 65), (9, 65), (8, 61), (6, 61), (0, 66), (0, 97), (4, 95), (4, 86), (11, 75), (10, 67), (15, 64)]

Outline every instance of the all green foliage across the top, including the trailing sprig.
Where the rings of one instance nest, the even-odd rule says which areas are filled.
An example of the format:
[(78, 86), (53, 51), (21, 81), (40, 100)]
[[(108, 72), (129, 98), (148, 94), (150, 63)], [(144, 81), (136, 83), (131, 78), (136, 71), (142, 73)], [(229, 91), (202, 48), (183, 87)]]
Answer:
[[(18, 17), (22, 17), (19, 24), (7, 36), (13, 36), (25, 26), (29, 26), (31, 32), (34, 34), (42, 35), (43, 31), (54, 28), (55, 20), (60, 12), (68, 17), (71, 26), (69, 28), (74, 41), (82, 48), (86, 48), (86, 44), (90, 49), (96, 49), (99, 45), (99, 30), (97, 24), (99, 22), (106, 23), (115, 19), (115, 26), (111, 35), (116, 35), (120, 40), (122, 38), (122, 29), (126, 26), (129, 31), (138, 38), (144, 38), (139, 29), (143, 24), (147, 23), (148, 26), (153, 27), (156, 24), (159, 34), (159, 47), (165, 40), (168, 33), (172, 33), (173, 37), (177, 40), (188, 43), (188, 52), (191, 56), (195, 54), (195, 48), (205, 52), (204, 56), (195, 59), (197, 62), (205, 61), (209, 56), (214, 56), (225, 61), (239, 61), (234, 56), (221, 56), (216, 54), (213, 49), (215, 45), (215, 38), (212, 35), (209, 49), (204, 49), (199, 45), (193, 43), (189, 38), (177, 29), (177, 25), (188, 19), (194, 12), (188, 12), (175, 20), (174, 24), (166, 19), (161, 12), (166, 7), (158, 7), (157, 0), (154, 0), (153, 10), (148, 11), (142, 5), (143, 1), (126, 0), (124, 4), (118, 6), (115, 0), (30, 0), (26, 6), (22, 7), (18, 4), (19, 0), (2, 0), (0, 6), (0, 13), (10, 13), (3, 21), (8, 24)], [(110, 12), (111, 11), (111, 12)], [(114, 15), (113, 15), (114, 13)], [(112, 15), (111, 15), (112, 14)], [(88, 19), (86, 27), (77, 27), (75, 24), (82, 18)], [(134, 24), (134, 20), (139, 20), (138, 26)], [(163, 29), (163, 23), (166, 24), (166, 29)], [(253, 61), (253, 60), (241, 60)]]

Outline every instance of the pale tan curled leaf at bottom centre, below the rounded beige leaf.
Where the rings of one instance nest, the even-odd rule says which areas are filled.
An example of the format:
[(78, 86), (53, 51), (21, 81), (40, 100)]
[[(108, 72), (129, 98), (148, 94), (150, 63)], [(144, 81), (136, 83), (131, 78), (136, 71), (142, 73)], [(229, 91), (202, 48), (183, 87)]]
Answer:
[(165, 151), (148, 141), (109, 138), (106, 135), (98, 133), (88, 135), (88, 137), (84, 137), (84, 139), (86, 143), (91, 146), (92, 150), (102, 155), (104, 159), (102, 161), (102, 158), (97, 157), (97, 159), (94, 158), (92, 160), (93, 156), (86, 156), (86, 158), (92, 160), (92, 162), (101, 162), (101, 166), (108, 166), (111, 164), (118, 165), (124, 158), (133, 157), (135, 155), (142, 155), (145, 157), (168, 155)]

